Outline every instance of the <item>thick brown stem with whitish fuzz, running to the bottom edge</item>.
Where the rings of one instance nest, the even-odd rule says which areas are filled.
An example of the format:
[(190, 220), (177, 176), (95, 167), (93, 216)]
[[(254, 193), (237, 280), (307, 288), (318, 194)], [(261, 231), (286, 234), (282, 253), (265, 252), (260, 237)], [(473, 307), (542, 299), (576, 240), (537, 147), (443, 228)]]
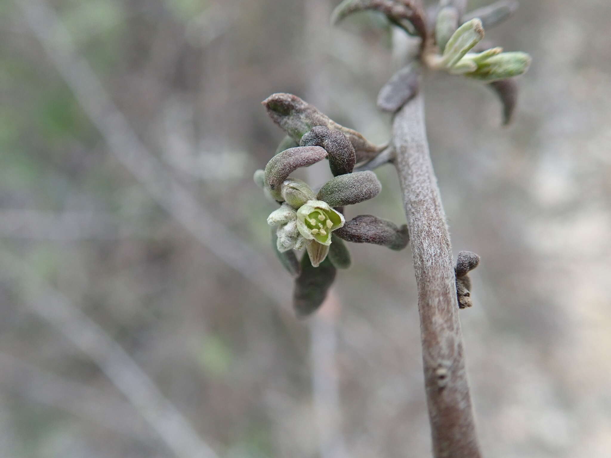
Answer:
[(422, 93), (393, 122), (395, 165), (408, 217), (436, 458), (478, 458), (480, 448), (458, 319), (452, 245), (429, 154)]

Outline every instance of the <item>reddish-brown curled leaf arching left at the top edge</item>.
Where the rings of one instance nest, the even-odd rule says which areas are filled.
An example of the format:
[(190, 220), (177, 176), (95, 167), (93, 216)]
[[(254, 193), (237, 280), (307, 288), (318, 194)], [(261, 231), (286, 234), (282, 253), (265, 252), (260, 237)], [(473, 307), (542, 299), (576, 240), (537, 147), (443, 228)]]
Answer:
[(331, 23), (337, 24), (346, 16), (364, 10), (384, 13), (408, 34), (426, 37), (426, 15), (420, 0), (344, 0), (332, 13)]

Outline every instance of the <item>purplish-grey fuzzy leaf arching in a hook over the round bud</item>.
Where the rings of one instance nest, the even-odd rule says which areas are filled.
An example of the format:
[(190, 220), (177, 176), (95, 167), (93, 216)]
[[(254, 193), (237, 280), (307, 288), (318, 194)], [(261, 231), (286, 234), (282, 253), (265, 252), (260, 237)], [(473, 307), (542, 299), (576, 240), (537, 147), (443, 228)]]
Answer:
[(321, 147), (296, 147), (289, 148), (276, 154), (265, 166), (265, 183), (271, 195), (282, 201), (280, 185), (295, 172), (299, 167), (307, 167), (316, 164), (327, 157), (327, 151)]

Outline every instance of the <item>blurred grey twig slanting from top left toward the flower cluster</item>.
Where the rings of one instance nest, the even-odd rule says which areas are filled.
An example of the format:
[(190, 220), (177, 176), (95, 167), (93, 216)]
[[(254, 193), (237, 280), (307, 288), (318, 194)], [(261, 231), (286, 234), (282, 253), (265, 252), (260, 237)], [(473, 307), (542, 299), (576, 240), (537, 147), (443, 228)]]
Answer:
[(196, 198), (169, 173), (130, 128), (130, 124), (104, 90), (89, 64), (78, 56), (68, 30), (43, 0), (19, 2), (27, 23), (46, 54), (98, 128), (115, 157), (197, 241), (224, 263), (250, 280), (279, 304), (285, 291), (276, 285), (276, 269), (199, 205)]

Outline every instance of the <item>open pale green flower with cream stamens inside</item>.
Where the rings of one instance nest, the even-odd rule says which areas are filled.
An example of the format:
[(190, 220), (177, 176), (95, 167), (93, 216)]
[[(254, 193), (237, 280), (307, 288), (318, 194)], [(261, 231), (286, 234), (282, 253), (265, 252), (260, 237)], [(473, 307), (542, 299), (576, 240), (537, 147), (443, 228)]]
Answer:
[(320, 200), (310, 200), (297, 211), (297, 228), (301, 235), (323, 245), (331, 244), (331, 232), (344, 223), (341, 213)]

